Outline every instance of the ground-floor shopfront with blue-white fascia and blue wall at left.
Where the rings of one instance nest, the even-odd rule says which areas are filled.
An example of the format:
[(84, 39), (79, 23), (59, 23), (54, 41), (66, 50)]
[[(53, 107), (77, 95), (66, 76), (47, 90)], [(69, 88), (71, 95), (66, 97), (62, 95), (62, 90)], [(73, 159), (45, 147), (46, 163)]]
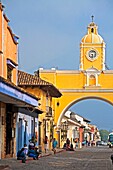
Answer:
[(38, 98), (0, 77), (0, 158), (15, 157), (38, 130)]

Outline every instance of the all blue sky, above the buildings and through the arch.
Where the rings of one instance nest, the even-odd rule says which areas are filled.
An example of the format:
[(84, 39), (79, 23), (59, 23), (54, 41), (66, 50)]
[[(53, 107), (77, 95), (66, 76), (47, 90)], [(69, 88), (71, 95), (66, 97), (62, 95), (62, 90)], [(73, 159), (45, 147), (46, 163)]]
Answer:
[[(113, 0), (2, 0), (2, 3), (13, 33), (19, 36), (20, 70), (31, 74), (40, 67), (78, 70), (80, 41), (92, 15), (106, 43), (106, 64), (113, 70)], [(113, 129), (113, 108), (106, 102), (85, 100), (71, 109), (91, 119), (100, 129)]]

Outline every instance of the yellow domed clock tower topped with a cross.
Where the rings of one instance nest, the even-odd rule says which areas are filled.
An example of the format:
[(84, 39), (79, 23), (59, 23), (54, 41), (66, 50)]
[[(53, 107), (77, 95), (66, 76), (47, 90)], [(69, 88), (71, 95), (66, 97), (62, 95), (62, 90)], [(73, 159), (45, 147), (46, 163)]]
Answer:
[(80, 70), (105, 70), (105, 42), (98, 34), (98, 26), (92, 22), (87, 27), (87, 34), (80, 43)]

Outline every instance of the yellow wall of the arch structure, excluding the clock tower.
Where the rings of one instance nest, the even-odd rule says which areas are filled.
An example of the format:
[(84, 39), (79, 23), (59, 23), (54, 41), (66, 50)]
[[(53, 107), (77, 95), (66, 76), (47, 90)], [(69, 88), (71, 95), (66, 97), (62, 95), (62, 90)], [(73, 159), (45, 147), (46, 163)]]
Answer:
[[(82, 100), (85, 98), (100, 98), (102, 100), (107, 100), (110, 103), (113, 103), (113, 91), (112, 92), (106, 92), (106, 90), (112, 90), (113, 89), (113, 73), (112, 74), (105, 74), (101, 73), (99, 75), (99, 84), (100, 87), (89, 87), (89, 89), (85, 89), (85, 80), (86, 76), (80, 72), (79, 74), (73, 74), (70, 71), (70, 74), (65, 71), (64, 73), (59, 73), (57, 70), (56, 80), (57, 84), (56, 87), (62, 92), (62, 97), (55, 100), (55, 123), (57, 123), (58, 118), (60, 114), (62, 113), (63, 109), (71, 104), (72, 102), (76, 102), (78, 100)], [(41, 72), (41, 78), (44, 79), (46, 77), (49, 79), (49, 72), (43, 71)], [(50, 73), (50, 81), (51, 79), (51, 73)], [(89, 90), (92, 89), (92, 92)], [(97, 92), (98, 90), (98, 92)], [(100, 90), (100, 91), (99, 91)], [(103, 90), (103, 91), (101, 91)], [(67, 91), (67, 92), (63, 92)], [(105, 92), (104, 92), (105, 91)], [(57, 106), (57, 102), (60, 103), (59, 106)]]

